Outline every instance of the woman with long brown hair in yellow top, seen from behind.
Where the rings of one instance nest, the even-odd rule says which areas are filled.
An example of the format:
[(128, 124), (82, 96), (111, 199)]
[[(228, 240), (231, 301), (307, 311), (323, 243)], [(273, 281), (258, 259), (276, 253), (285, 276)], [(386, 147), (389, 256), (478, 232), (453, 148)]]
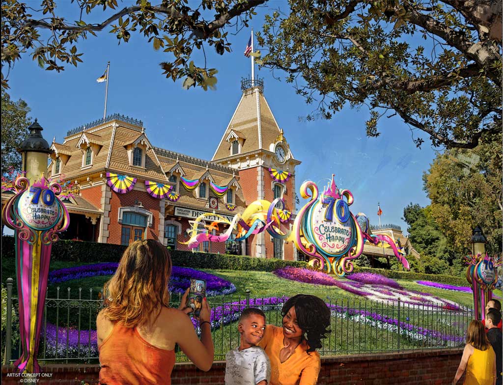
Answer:
[(466, 345), (458, 370), (452, 381), (455, 385), (466, 370), (463, 385), (495, 385), (496, 355), (480, 321), (472, 321), (466, 332)]

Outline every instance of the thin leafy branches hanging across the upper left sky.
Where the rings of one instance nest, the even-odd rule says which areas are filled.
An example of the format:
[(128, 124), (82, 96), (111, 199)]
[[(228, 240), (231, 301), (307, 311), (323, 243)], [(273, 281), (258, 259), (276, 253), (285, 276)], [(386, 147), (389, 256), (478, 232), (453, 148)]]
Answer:
[[(208, 45), (220, 55), (230, 52), (225, 28), (247, 26), (254, 8), (265, 2), (201, 0), (191, 8), (187, 0), (162, 0), (159, 5), (137, 0), (135, 5), (117, 10), (117, 0), (71, 0), (80, 17), (70, 21), (58, 13), (56, 0), (41, 0), (38, 8), (19, 0), (2, 0), (2, 86), (8, 87), (4, 64), (10, 69), (25, 54), (46, 70), (59, 72), (65, 64), (76, 67), (82, 62), (77, 44), (109, 27), (119, 44), (138, 33), (154, 50), (171, 53), (171, 61), (160, 63), (166, 77), (185, 78), (185, 88), (198, 85), (207, 89), (215, 85), (217, 70), (207, 68), (206, 60), (202, 66), (195, 65), (190, 60), (193, 51)], [(110, 10), (115, 13), (105, 17)], [(101, 23), (86, 22), (97, 14), (103, 18)]]

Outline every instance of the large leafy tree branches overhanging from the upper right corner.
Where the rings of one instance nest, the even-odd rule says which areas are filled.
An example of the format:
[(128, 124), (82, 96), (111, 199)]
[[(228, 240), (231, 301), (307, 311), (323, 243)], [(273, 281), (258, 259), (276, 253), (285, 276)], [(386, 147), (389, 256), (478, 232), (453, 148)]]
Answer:
[[(474, 148), (501, 124), (501, 1), (290, 0), (266, 17), (262, 62), (330, 119), (398, 115), (434, 146)], [(423, 139), (414, 137), (417, 146)]]

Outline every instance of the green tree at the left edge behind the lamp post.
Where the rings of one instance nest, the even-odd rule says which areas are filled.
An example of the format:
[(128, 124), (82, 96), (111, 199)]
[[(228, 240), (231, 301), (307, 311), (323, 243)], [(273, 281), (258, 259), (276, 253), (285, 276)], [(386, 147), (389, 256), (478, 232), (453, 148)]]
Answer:
[(31, 119), (25, 101), (14, 102), (2, 90), (2, 175), (21, 170), (21, 155), (17, 148), (28, 135)]

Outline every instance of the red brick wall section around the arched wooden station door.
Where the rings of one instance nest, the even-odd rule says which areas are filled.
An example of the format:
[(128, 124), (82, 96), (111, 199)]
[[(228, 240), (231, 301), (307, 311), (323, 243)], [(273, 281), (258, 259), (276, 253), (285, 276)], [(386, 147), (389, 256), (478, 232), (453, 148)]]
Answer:
[[(136, 183), (144, 183), (142, 180), (137, 180)], [(159, 200), (152, 198), (146, 191), (131, 190), (126, 194), (117, 194), (112, 191), (112, 198), (110, 199), (110, 225), (108, 230), (110, 235), (108, 243), (120, 244), (121, 243), (121, 230), (122, 225), (119, 220), (119, 207), (132, 207), (136, 206), (134, 202), (138, 200), (143, 205), (145, 210), (152, 213), (152, 225), (147, 227), (147, 239), (158, 239), (159, 227)], [(131, 234), (132, 236), (132, 234)]]

